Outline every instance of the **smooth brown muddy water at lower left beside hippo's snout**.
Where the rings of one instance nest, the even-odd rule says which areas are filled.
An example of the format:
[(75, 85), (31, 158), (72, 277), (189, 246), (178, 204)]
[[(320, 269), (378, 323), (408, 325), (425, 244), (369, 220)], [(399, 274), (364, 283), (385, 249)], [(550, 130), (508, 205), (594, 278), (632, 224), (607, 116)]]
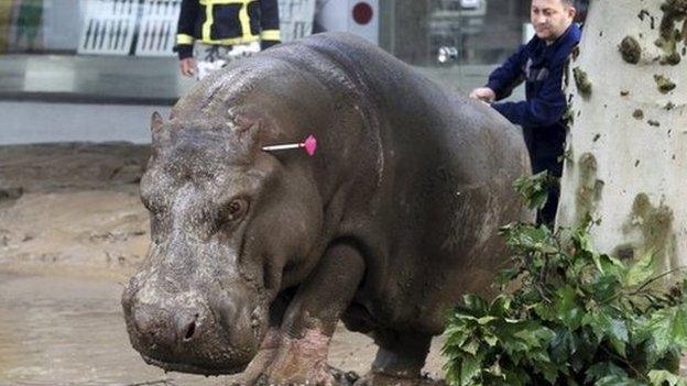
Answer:
[(0, 273), (0, 385), (219, 385), (165, 374), (129, 345), (122, 285)]

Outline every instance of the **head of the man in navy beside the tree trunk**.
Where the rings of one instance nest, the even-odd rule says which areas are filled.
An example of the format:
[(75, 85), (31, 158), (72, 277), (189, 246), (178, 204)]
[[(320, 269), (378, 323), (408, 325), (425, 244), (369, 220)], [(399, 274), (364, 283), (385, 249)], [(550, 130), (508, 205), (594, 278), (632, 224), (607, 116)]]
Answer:
[(536, 35), (553, 43), (575, 20), (574, 0), (532, 0), (530, 18)]

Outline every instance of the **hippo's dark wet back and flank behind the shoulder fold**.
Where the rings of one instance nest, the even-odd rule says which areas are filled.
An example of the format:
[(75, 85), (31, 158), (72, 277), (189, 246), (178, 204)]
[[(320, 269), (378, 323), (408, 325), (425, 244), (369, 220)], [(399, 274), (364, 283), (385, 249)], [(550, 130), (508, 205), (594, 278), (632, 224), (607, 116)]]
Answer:
[(270, 55), (334, 82), (366, 117), (359, 151), (374, 153), (361, 154), (374, 173), (360, 174), (340, 224), (368, 252), (356, 301), (374, 323), (440, 332), (444, 308), (484, 291), (508, 258), (499, 227), (531, 219), (512, 189), (530, 173), (522, 135), (352, 35), (314, 35)]

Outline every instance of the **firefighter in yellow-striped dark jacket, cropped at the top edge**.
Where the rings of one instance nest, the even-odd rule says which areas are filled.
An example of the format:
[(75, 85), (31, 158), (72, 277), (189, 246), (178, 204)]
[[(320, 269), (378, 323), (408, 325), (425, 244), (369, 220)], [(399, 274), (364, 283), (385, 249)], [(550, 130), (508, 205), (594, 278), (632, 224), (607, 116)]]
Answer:
[(174, 51), (182, 74), (203, 79), (280, 41), (277, 0), (183, 0)]

